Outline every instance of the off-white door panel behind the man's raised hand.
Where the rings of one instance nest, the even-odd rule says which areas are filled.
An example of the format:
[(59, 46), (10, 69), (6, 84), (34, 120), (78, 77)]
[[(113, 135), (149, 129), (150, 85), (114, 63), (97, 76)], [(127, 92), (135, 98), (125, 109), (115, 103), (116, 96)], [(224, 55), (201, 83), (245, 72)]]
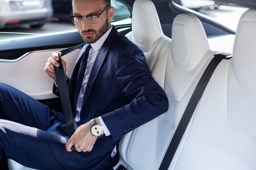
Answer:
[[(44, 67), (52, 52), (59, 52), (60, 48), (52, 50), (38, 50), (27, 52), (16, 60), (0, 60), (0, 81), (23, 91), (36, 100), (56, 98), (52, 93), (53, 79), (50, 79)], [(63, 56), (67, 62), (68, 74), (71, 75), (80, 50)]]

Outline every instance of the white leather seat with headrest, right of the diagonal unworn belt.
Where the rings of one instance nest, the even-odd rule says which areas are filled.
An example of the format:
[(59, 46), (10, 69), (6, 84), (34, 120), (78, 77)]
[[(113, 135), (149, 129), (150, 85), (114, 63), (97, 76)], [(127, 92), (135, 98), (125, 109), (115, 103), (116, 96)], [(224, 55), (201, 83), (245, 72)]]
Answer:
[(256, 169), (255, 16), (240, 18), (233, 59), (215, 69), (169, 169)]

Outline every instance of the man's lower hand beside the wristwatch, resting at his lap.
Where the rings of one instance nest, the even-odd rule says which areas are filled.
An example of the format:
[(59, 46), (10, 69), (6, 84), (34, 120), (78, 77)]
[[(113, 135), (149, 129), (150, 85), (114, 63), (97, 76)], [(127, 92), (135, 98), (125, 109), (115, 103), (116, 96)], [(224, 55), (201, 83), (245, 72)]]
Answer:
[(87, 151), (91, 152), (97, 137), (90, 132), (90, 122), (80, 125), (75, 133), (70, 137), (65, 147), (68, 152), (71, 152), (71, 147), (74, 145), (75, 150), (78, 152)]

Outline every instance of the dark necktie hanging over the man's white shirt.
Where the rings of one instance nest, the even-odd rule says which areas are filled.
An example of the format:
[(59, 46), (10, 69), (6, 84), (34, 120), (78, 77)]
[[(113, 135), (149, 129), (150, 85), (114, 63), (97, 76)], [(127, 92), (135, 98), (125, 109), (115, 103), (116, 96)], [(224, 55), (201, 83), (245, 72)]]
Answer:
[(76, 81), (75, 81), (75, 90), (74, 90), (74, 98), (73, 98), (73, 101), (74, 101), (73, 104), (74, 104), (75, 110), (76, 110), (76, 103), (78, 101), (78, 95), (80, 93), (80, 89), (81, 89), (81, 86), (82, 86), (82, 79), (85, 75), (85, 68), (86, 68), (86, 64), (87, 64), (89, 50), (91, 48), (92, 48), (92, 46), (89, 45), (86, 48), (86, 50), (84, 52), (84, 55), (80, 58), (80, 60), (78, 60), (78, 64), (80, 64), (80, 67), (79, 67), (79, 71), (78, 71), (78, 76), (76, 77)]

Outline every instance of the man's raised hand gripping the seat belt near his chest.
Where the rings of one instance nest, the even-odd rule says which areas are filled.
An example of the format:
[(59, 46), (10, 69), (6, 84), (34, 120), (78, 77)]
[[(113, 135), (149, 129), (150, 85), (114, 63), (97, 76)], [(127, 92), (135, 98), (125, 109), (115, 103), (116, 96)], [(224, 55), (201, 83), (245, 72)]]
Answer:
[[(61, 52), (59, 52), (59, 55), (61, 56)], [(52, 78), (55, 82), (56, 82), (56, 77), (55, 77), (55, 72), (54, 72), (54, 67), (60, 67), (60, 64), (58, 63), (58, 60), (60, 60), (60, 57), (58, 57), (58, 54), (56, 52), (53, 52), (51, 54), (51, 57), (48, 58), (48, 62), (46, 62), (46, 67), (44, 68), (46, 74), (48, 74), (48, 76), (50, 78)], [(62, 60), (62, 59), (61, 59)], [(63, 69), (65, 72), (65, 79), (68, 78), (67, 76), (67, 64), (64, 60), (62, 60), (63, 62)]]

